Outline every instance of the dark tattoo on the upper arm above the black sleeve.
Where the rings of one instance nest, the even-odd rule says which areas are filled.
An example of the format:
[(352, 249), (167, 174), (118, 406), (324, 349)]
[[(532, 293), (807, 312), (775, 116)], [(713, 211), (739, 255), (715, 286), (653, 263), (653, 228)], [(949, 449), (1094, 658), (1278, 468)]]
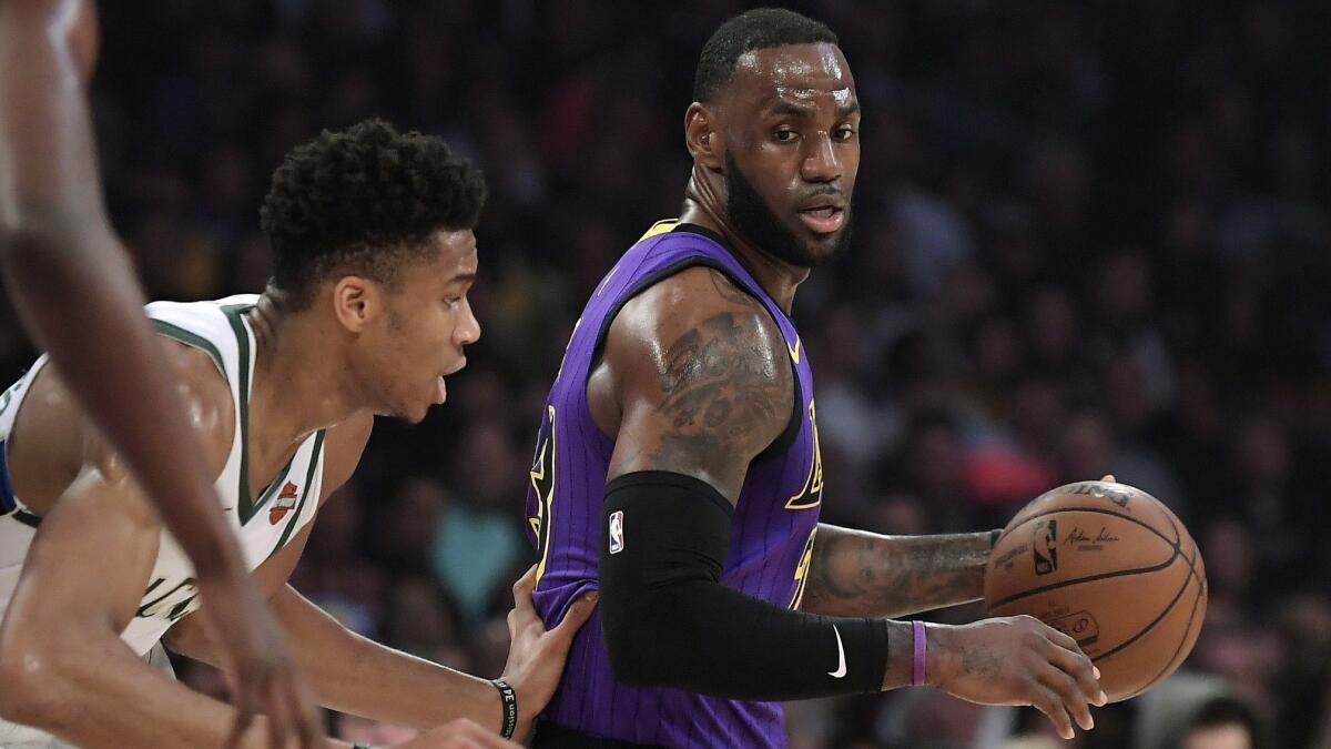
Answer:
[(715, 315), (679, 336), (658, 364), (656, 410), (667, 420), (659, 460), (676, 468), (747, 465), (789, 417), (779, 351), (743, 312)]

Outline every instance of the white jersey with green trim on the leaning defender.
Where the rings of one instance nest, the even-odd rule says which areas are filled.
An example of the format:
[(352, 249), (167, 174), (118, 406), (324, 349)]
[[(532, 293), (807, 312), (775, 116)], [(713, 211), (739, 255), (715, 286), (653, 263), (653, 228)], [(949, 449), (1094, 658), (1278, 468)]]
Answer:
[[(254, 569), (314, 518), (323, 480), (323, 432), (306, 438), (291, 461), (257, 497), (249, 490), (249, 394), (254, 381), (254, 332), (242, 312), (258, 297), (244, 295), (218, 301), (153, 303), (148, 316), (157, 332), (200, 349), (213, 360), (232, 389), (236, 434), (226, 465), (214, 484), (221, 500), (218, 512), (240, 541), (245, 564)], [(0, 616), (8, 608), (27, 546), (41, 518), (15, 496), (8, 476), (5, 444), (19, 408), (37, 373), (43, 356), (9, 390), (0, 396)], [(176, 538), (165, 529), (157, 560), (134, 618), (121, 638), (136, 653), (146, 653), (185, 614), (198, 608), (194, 568)]]

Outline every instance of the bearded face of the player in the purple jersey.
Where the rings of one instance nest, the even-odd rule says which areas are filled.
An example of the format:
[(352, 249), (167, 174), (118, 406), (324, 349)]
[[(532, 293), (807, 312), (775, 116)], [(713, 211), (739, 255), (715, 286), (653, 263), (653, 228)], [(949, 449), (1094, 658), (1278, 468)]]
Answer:
[(841, 49), (745, 52), (716, 104), (731, 225), (795, 265), (836, 257), (851, 237), (860, 169), (860, 101)]

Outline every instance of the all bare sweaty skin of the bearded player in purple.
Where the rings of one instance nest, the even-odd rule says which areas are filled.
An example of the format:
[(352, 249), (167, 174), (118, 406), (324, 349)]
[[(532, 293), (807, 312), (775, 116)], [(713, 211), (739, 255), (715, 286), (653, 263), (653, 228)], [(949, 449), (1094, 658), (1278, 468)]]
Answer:
[[(693, 169), (680, 220), (723, 236), (789, 312), (811, 268), (844, 247), (858, 127), (855, 81), (836, 45), (741, 55), (715, 99), (685, 113)], [(791, 418), (785, 349), (767, 311), (709, 268), (689, 268), (631, 299), (587, 382), (592, 417), (615, 441), (607, 480), (683, 473), (736, 502), (749, 462)], [(823, 524), (803, 609), (890, 617), (973, 601), (988, 550), (988, 532), (889, 537)], [(930, 625), (926, 637), (929, 684), (950, 694), (1034, 705), (1065, 737), (1074, 722), (1091, 728), (1089, 705), (1105, 704), (1090, 660), (1034, 618)], [(909, 622), (889, 622), (884, 689), (910, 684), (912, 640)]]

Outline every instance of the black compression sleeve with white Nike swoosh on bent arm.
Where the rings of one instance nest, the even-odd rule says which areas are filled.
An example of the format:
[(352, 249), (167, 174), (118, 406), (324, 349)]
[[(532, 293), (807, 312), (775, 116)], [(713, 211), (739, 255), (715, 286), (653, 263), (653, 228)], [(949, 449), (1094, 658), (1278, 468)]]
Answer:
[(801, 613), (721, 585), (732, 514), (716, 489), (679, 473), (606, 486), (600, 616), (616, 678), (737, 700), (880, 690), (886, 621)]

